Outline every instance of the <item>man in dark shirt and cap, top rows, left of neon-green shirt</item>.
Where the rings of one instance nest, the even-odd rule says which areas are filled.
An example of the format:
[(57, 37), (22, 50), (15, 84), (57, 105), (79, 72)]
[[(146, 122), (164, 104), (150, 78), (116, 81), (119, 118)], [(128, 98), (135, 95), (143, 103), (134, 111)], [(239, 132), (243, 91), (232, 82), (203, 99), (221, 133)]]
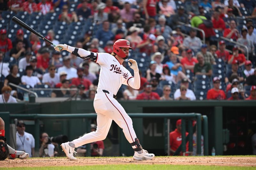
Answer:
[(172, 15), (172, 28), (179, 25), (178, 22), (188, 24), (188, 15), (184, 12), (184, 6), (177, 6), (177, 14)]

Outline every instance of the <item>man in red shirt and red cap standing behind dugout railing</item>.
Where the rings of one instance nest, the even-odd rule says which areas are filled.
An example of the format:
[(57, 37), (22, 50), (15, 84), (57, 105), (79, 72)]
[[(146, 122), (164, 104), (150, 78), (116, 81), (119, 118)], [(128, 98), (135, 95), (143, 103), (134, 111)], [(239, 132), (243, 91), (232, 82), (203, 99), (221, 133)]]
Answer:
[[(186, 132), (188, 136), (188, 132)], [(179, 148), (182, 142), (181, 137), (181, 119), (176, 122), (176, 129), (170, 133), (170, 154), (173, 155), (175, 151)], [(188, 142), (186, 144), (186, 150), (188, 150)], [(182, 155), (182, 153), (180, 153)]]

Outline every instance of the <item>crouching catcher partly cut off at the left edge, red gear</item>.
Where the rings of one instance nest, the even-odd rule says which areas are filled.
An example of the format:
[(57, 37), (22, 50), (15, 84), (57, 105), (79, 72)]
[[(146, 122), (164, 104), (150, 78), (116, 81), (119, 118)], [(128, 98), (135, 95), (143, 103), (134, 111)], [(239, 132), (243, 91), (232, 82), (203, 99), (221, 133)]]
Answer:
[(4, 160), (7, 157), (9, 159), (26, 159), (29, 154), (24, 151), (15, 151), (11, 146), (6, 144), (6, 138), (4, 137), (4, 120), (0, 117), (0, 160)]

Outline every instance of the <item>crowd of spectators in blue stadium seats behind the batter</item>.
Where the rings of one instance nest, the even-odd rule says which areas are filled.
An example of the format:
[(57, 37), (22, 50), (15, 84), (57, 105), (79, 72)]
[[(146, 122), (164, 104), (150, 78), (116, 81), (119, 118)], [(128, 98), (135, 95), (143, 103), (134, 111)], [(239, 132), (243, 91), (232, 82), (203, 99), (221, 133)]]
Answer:
[(12, 16), (54, 44), (111, 53), (116, 40), (130, 41), (141, 87), (122, 85), (118, 99), (256, 100), (255, 0), (3, 0), (0, 13), (5, 102), (24, 96), (8, 83), (55, 88), (36, 91), (43, 97), (90, 100), (100, 71), (97, 63), (55, 51)]

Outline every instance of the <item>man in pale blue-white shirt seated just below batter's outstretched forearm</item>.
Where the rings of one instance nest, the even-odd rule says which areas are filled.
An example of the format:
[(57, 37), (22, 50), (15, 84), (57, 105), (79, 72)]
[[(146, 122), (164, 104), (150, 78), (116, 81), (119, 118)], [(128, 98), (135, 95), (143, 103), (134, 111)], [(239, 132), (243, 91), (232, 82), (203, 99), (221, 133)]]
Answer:
[(63, 57), (63, 64), (64, 66), (60, 67), (58, 69), (58, 74), (60, 74), (61, 71), (65, 71), (67, 75), (67, 79), (77, 78), (77, 70), (70, 66), (70, 56)]

